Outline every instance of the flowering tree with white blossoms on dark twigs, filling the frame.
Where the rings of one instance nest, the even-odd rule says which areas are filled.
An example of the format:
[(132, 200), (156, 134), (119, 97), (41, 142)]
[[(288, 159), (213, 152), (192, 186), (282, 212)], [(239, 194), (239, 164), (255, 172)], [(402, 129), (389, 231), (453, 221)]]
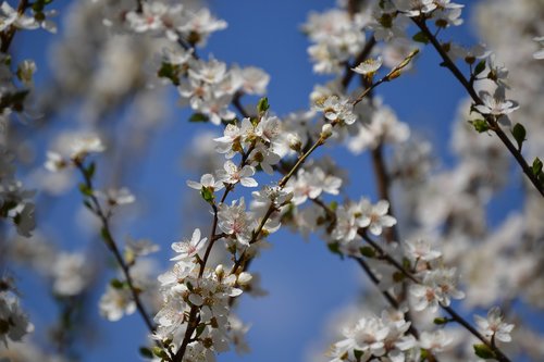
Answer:
[[(465, 8), (449, 0), (349, 0), (311, 12), (301, 29), (320, 84), (306, 109), (287, 114), (267, 97), (264, 70), (212, 55), (209, 38), (228, 32), (213, 7), (81, 1), (60, 7), (63, 32), (51, 0), (0, 8), (2, 361), (89, 360), (97, 314), (121, 324), (137, 314), (144, 341), (112, 345), (141, 359), (247, 353), (251, 329), (238, 313), (246, 295), (265, 294), (259, 257), (281, 239), (310, 235), (324, 241), (312, 248), (357, 266), (366, 285), (309, 360), (543, 358), (534, 326), (544, 292), (540, 1), (472, 4), (490, 46), (468, 47), (450, 39), (465, 26)], [(55, 34), (42, 86), (34, 84), (42, 64), (16, 50), (38, 28)], [(381, 96), (406, 78), (417, 83), (424, 53), (465, 93), (446, 165), (418, 124), (401, 122)], [(429, 107), (417, 92), (405, 97)], [(189, 135), (180, 138), (190, 146), (177, 149), (186, 154), (175, 186), (187, 192), (188, 232), (132, 238), (147, 217), (156, 229), (165, 224), (151, 190), (163, 180), (135, 179), (147, 177), (147, 150), (168, 112), (182, 115)], [(368, 170), (355, 172), (366, 154)], [(361, 173), (375, 191), (348, 186)], [(516, 201), (496, 216), (495, 200), (507, 191)], [(87, 251), (62, 242), (71, 233), (91, 236)], [(28, 279), (46, 290), (35, 296)], [(48, 338), (38, 337), (39, 315), (52, 308), (26, 308), (40, 292), (59, 311)]]

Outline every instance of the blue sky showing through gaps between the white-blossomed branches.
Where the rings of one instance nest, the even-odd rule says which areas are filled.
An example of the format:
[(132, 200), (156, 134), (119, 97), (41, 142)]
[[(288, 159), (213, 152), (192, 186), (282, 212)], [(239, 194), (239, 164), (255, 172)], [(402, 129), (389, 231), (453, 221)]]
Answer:
[[(500, 17), (497, 3), (508, 1), (457, 2), (465, 4), (465, 24), (446, 29), (441, 35), (443, 39), (453, 39), (468, 48), (487, 43), (509, 68), (520, 66), (511, 53), (536, 51), (536, 47), (531, 48), (530, 33), (537, 29), (511, 32), (528, 16), (521, 12), (529, 5), (519, 5), (520, 13)], [(539, 0), (523, 2), (544, 8)], [(516, 8), (515, 2), (509, 3)], [(331, 9), (335, 2), (210, 0), (206, 5), (217, 17), (226, 21), (228, 27), (214, 33), (207, 46), (198, 49), (199, 55), (213, 57), (228, 65), (236, 63), (264, 70), (271, 76), (267, 93), (271, 110), (280, 117), (309, 109), (309, 93), (314, 85), (324, 84), (331, 77), (312, 73), (307, 52), (309, 41), (301, 25), (310, 12)], [(37, 350), (45, 351), (38, 355), (54, 354), (59, 347), (51, 347), (51, 338), (69, 338), (59, 336), (59, 330), (82, 323), (84, 330), (73, 340), (69, 338), (69, 347), (64, 347), (74, 359), (136, 361), (140, 359), (138, 347), (147, 344), (147, 330), (137, 314), (119, 322), (109, 322), (99, 315), (99, 299), (108, 280), (118, 273), (114, 261), (99, 239), (99, 226), (82, 204), (78, 175), (48, 173), (41, 166), (46, 150), (54, 145), (61, 132), (100, 129), (107, 135), (107, 145), (110, 145), (107, 153), (94, 158), (97, 184), (126, 186), (137, 200), (119, 209), (114, 219), (115, 236), (119, 240), (149, 239), (158, 244), (160, 251), (149, 258), (157, 275), (170, 265), (172, 242), (188, 237), (195, 227), (209, 227), (208, 207), (186, 186), (186, 180), (198, 180), (206, 170), (211, 171), (209, 166), (214, 163), (210, 139), (218, 137), (221, 130), (211, 124), (187, 122), (191, 112), (180, 107), (176, 90), (150, 80), (160, 63), (161, 45), (152, 38), (110, 34), (101, 25), (99, 8), (91, 1), (54, 0), (49, 9), (58, 11), (53, 18), (58, 24), (57, 34), (33, 30), (15, 35), (11, 48), (14, 60), (33, 59), (38, 71), (33, 107), (28, 114), (16, 120), (8, 141), (17, 143), (17, 173), (25, 187), (38, 190), (38, 229), (33, 238), (23, 239), (2, 227), (1, 238), (12, 247), (3, 249), (0, 265), (4, 275), (14, 278), (22, 303), (35, 325), (35, 332), (27, 339)], [(533, 16), (528, 24), (539, 23), (540, 15), (533, 13)], [(504, 36), (500, 32), (510, 32), (511, 39), (500, 39)], [(410, 34), (415, 33), (412, 29)], [(520, 42), (516, 36), (526, 38)], [(507, 49), (503, 43), (516, 46)], [(416, 66), (394, 83), (380, 87), (376, 95), (410, 126), (416, 139), (432, 145), (433, 168), (440, 172), (457, 163), (458, 154), (452, 141), (453, 122), (458, 117), (466, 92), (447, 70), (440, 66), (434, 50), (430, 47), (421, 50)], [(519, 74), (515, 79), (520, 86), (524, 82)], [(542, 83), (529, 86), (529, 89), (536, 88), (533, 93), (544, 92)], [(527, 96), (518, 95), (518, 100)], [(257, 101), (258, 97), (243, 99), (248, 109)], [(530, 136), (530, 141), (537, 142), (536, 137)], [(539, 154), (537, 149), (530, 152)], [(323, 155), (330, 155), (349, 171), (349, 183), (339, 200), (361, 196), (376, 200), (368, 153), (353, 154), (336, 146), (324, 148), (314, 157)], [(526, 205), (521, 173), (512, 165), (507, 170), (511, 176), (509, 182), (494, 189), (493, 198), (485, 203), (484, 219), (490, 229), (498, 228), (512, 211)], [(366, 290), (372, 291), (357, 265), (332, 254), (316, 235), (305, 239), (282, 229), (269, 241), (271, 248), (251, 265), (251, 272), (261, 275), (261, 286), (268, 295), (245, 296), (237, 309), (240, 319), (251, 325), (247, 337), (251, 352), (243, 357), (227, 352), (220, 354), (219, 361), (317, 361), (316, 355), (323, 354), (332, 341), (331, 325), (353, 305), (364, 303)], [(21, 247), (13, 247), (14, 242)], [(66, 324), (64, 313), (71, 310), (71, 301), (52, 295), (54, 275), (45, 272), (62, 252), (82, 253), (86, 261), (92, 261), (85, 272), (85, 298), (74, 301), (79, 305), (71, 316), (73, 326)], [(518, 302), (521, 303), (516, 300)], [(484, 310), (477, 308), (481, 313)], [(539, 313), (535, 305), (523, 304), (519, 310), (528, 320)], [(468, 309), (463, 311), (468, 313)], [(539, 323), (533, 324), (536, 329), (544, 329)]]

